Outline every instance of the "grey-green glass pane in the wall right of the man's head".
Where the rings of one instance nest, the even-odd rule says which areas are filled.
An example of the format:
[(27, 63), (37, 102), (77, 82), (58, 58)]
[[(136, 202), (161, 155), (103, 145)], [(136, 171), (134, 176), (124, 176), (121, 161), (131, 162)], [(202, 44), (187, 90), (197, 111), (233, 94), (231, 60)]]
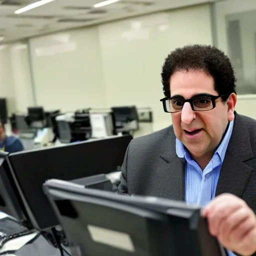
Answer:
[(228, 56), (237, 93), (256, 93), (256, 10), (225, 15)]

